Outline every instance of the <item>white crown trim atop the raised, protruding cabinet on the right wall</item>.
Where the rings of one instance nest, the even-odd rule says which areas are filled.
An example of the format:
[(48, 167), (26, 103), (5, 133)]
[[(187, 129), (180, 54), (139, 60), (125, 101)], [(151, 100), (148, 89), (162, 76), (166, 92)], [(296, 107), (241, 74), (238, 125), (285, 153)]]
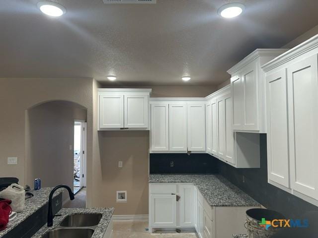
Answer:
[(227, 72), (231, 75), (236, 73), (239, 69), (250, 63), (251, 61), (257, 59), (261, 56), (279, 56), (288, 51), (288, 49), (256, 49), (243, 60), (240, 60), (236, 65), (230, 68)]

